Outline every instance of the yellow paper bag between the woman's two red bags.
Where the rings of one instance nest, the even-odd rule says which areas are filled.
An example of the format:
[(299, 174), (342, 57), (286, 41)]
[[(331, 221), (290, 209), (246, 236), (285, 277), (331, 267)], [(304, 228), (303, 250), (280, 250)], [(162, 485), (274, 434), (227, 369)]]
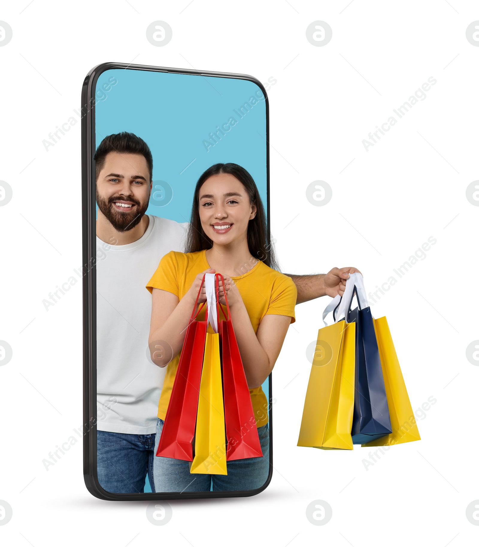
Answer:
[(190, 473), (227, 475), (220, 335), (206, 333), (198, 400), (195, 455)]

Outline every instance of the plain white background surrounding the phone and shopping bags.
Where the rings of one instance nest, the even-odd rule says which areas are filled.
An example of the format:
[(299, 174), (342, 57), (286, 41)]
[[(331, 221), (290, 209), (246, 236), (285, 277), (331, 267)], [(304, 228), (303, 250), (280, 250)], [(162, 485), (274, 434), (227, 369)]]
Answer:
[[(465, 34), (479, 19), (476, 3), (27, 4), (3, 3), (0, 13), (13, 28), (0, 48), (0, 179), (13, 188), (0, 208), (0, 338), (13, 348), (0, 367), (0, 499), (13, 508), (2, 543), (476, 544), (479, 527), (465, 514), (479, 498), (479, 368), (466, 359), (479, 339), (479, 207), (466, 200), (479, 178), (479, 48)], [(172, 27), (168, 45), (147, 41), (155, 20)], [(316, 20), (332, 28), (325, 46), (306, 39)], [(42, 459), (82, 423), (82, 288), (48, 312), (42, 305), (82, 261), (80, 125), (48, 152), (42, 140), (79, 108), (93, 66), (133, 60), (277, 80), (269, 90), (271, 212), (284, 271), (356, 266), (366, 289), (376, 290), (428, 237), (437, 239), (372, 307), (388, 317), (413, 409), (437, 399), (418, 420), (422, 440), (391, 448), (367, 470), (368, 449), (296, 446), (310, 370), (305, 348), (326, 297), (297, 307), (274, 369), (275, 472), (263, 493), (172, 502), (170, 522), (153, 526), (147, 502), (100, 501), (86, 491), (80, 442), (45, 470)], [(366, 152), (361, 141), (431, 76), (437, 84), (425, 100)], [(325, 206), (306, 199), (316, 180), (332, 188)], [(316, 499), (332, 507), (324, 526), (305, 515)]]

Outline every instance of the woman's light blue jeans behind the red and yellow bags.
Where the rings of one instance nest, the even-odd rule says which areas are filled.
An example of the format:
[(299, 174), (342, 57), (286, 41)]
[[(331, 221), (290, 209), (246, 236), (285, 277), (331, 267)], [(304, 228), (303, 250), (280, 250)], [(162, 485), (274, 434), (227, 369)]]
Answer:
[[(155, 452), (160, 442), (163, 420), (158, 420)], [(269, 426), (258, 427), (262, 458), (234, 459), (227, 462), (227, 475), (191, 474), (183, 459), (154, 457), (153, 476), (157, 492), (205, 492), (210, 490), (256, 490), (269, 474)]]

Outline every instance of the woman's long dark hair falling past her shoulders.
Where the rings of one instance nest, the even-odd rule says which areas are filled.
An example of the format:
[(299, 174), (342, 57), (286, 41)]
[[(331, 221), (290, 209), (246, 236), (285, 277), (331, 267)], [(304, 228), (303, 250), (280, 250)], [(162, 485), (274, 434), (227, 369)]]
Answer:
[(258, 188), (253, 177), (245, 168), (237, 164), (215, 164), (207, 170), (198, 179), (194, 189), (193, 207), (191, 210), (191, 220), (186, 235), (185, 251), (195, 253), (210, 249), (213, 246), (212, 240), (205, 234), (201, 226), (199, 213), (199, 193), (203, 183), (215, 174), (232, 174), (233, 177), (243, 184), (251, 205), (256, 205), (256, 216), (248, 223), (247, 240), (248, 248), (253, 257), (262, 260), (264, 264), (278, 270), (278, 263), (272, 244), (268, 245), (266, 230), (266, 215), (264, 214), (263, 202), (259, 197)]

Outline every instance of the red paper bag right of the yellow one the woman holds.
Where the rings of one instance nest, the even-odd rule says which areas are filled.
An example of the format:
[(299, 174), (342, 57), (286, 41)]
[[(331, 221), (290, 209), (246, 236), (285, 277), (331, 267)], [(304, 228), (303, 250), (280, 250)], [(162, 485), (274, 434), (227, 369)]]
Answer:
[[(223, 276), (221, 274), (216, 275), (224, 287)], [(218, 304), (220, 304), (226, 319), (219, 323), (223, 370), (224, 422), (227, 440), (226, 459), (230, 461), (232, 459), (262, 457), (263, 453), (259, 444), (250, 389), (246, 381), (238, 342), (236, 342), (233, 323), (231, 322), (226, 291), (224, 294), (228, 316), (224, 313), (219, 299)]]

